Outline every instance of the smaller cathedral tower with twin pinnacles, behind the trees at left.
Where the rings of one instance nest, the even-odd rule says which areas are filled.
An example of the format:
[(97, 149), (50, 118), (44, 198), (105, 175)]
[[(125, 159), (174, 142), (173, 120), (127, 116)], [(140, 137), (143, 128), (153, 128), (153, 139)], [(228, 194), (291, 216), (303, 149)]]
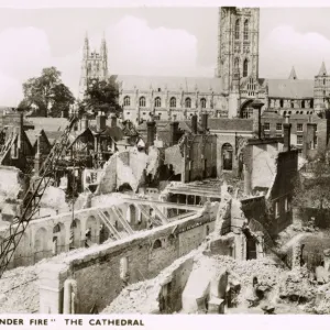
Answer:
[(100, 52), (90, 52), (88, 36), (85, 36), (81, 74), (79, 81), (79, 99), (84, 98), (84, 94), (88, 84), (92, 79), (106, 80), (108, 78), (108, 50), (105, 36), (102, 37)]

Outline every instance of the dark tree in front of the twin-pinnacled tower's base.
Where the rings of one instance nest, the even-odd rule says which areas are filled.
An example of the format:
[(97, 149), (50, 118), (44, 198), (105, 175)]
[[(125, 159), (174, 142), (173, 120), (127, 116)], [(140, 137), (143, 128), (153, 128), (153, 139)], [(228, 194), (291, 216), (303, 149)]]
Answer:
[(108, 80), (91, 80), (85, 92), (84, 103), (86, 110), (90, 110), (94, 113), (98, 111), (119, 113), (121, 112), (121, 107), (118, 103), (118, 98), (119, 85), (112, 76)]

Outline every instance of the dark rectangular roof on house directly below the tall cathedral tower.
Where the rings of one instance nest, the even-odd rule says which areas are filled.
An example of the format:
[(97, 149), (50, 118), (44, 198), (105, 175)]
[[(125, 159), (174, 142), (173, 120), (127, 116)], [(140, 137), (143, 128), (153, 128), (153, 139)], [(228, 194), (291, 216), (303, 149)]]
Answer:
[(252, 119), (241, 119), (241, 118), (209, 118), (208, 128), (210, 130), (219, 131), (253, 131), (253, 120)]

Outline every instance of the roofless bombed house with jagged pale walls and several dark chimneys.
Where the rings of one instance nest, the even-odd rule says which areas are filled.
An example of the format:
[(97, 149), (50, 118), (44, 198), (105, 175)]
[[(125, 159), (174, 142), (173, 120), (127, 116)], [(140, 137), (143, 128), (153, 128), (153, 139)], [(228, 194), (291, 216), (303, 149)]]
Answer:
[[(133, 191), (140, 187), (163, 189), (169, 180), (190, 182), (217, 176), (217, 138), (207, 130), (207, 113), (202, 114), (202, 132), (198, 132), (197, 116), (191, 118), (193, 133), (169, 122), (164, 140), (168, 146), (157, 146), (156, 122), (146, 122), (146, 143), (114, 154), (106, 163), (98, 191), (108, 194), (125, 185)], [(163, 132), (164, 133), (164, 132)]]

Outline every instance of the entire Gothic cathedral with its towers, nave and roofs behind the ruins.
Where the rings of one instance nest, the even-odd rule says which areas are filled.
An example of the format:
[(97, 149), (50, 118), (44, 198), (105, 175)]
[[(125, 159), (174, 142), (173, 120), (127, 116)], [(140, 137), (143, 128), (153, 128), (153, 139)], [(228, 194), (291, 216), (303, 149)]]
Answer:
[[(138, 123), (151, 112), (160, 120), (186, 120), (201, 111), (210, 118), (250, 118), (254, 99), (264, 103), (263, 111), (280, 116), (310, 116), (327, 107), (330, 76), (324, 63), (314, 79), (298, 79), (294, 67), (285, 79), (258, 76), (258, 8), (220, 8), (218, 29), (216, 77), (113, 76), (123, 120)], [(86, 36), (82, 56), (80, 99), (90, 80), (110, 77), (105, 37), (100, 51), (91, 52)]]

